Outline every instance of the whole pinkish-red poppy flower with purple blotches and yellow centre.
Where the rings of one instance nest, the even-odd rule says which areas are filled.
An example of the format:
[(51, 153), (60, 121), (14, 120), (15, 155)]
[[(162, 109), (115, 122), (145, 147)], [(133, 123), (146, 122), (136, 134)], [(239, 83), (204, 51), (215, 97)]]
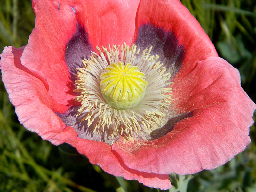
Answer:
[(255, 104), (180, 1), (32, 2), (28, 44), (0, 63), (26, 129), (161, 189), (250, 143)]

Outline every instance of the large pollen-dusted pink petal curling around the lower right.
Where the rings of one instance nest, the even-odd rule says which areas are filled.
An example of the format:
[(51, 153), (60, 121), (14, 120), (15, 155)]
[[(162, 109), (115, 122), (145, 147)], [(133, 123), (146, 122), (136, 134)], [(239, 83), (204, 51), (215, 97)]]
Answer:
[(209, 57), (188, 74), (177, 74), (173, 110), (193, 112), (153, 141), (118, 140), (113, 144), (131, 169), (191, 174), (214, 169), (250, 143), (255, 104), (240, 86), (240, 75), (227, 61)]

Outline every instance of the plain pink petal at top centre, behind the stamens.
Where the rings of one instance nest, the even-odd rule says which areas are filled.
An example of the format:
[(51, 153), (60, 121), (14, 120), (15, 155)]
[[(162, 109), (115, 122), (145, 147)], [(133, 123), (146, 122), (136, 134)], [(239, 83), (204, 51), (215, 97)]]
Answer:
[(139, 0), (70, 1), (78, 22), (85, 27), (89, 41), (96, 46), (131, 44)]

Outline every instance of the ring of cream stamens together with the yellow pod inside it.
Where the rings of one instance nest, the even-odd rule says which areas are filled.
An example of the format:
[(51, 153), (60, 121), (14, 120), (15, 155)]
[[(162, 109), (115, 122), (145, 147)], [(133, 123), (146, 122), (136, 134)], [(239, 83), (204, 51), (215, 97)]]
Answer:
[[(166, 123), (171, 105), (171, 74), (163, 63), (156, 62), (158, 55), (150, 55), (145, 49), (124, 44), (113, 49), (97, 47), (99, 55), (92, 52), (89, 60), (78, 68), (75, 97), (81, 102), (77, 116), (85, 114), (81, 121), (93, 132), (107, 132), (112, 138), (123, 135), (127, 139), (139, 131), (150, 132)], [(147, 52), (148, 51), (148, 52)]]

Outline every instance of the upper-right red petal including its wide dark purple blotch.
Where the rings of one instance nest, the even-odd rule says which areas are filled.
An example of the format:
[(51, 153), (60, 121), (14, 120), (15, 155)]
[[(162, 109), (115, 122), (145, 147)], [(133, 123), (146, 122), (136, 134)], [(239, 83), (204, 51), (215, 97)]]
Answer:
[(181, 63), (182, 70), (190, 71), (206, 57), (218, 56), (203, 28), (179, 0), (140, 1), (134, 42), (142, 49), (152, 45), (151, 53), (162, 62), (169, 58), (165, 65), (176, 65), (175, 74)]

